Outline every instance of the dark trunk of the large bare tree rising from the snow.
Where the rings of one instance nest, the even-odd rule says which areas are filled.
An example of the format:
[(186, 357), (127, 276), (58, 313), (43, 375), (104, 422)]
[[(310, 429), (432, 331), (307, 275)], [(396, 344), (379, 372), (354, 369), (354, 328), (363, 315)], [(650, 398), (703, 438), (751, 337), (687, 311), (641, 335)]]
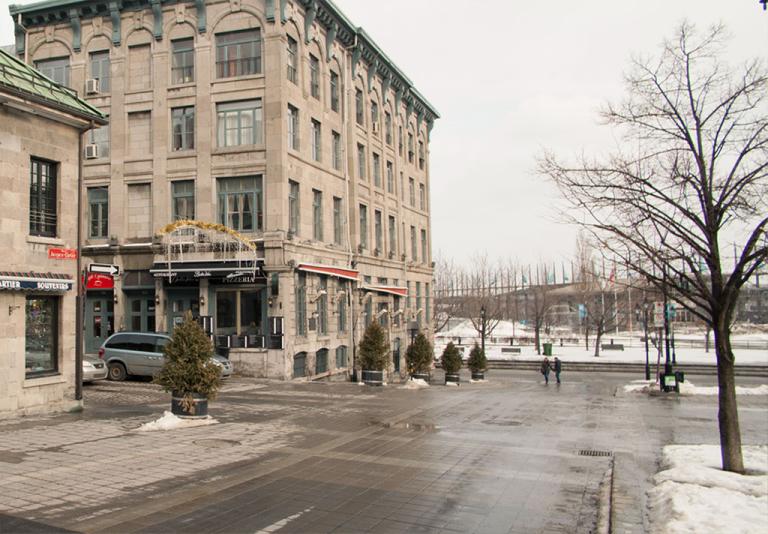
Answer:
[(715, 353), (717, 354), (718, 413), (720, 427), (720, 454), (723, 470), (744, 473), (744, 459), (741, 454), (741, 430), (736, 404), (736, 384), (733, 374), (733, 351), (731, 334), (727, 325), (716, 321)]

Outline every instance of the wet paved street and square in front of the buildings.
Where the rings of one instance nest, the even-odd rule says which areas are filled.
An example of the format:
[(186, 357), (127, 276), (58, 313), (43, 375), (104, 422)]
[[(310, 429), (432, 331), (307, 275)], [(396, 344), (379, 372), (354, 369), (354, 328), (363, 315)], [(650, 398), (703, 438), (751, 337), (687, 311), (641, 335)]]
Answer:
[[(156, 386), (88, 385), (82, 413), (0, 420), (0, 532), (588, 533), (611, 459), (582, 451), (631, 455), (647, 478), (663, 445), (717, 443), (714, 398), (617, 393), (626, 375), (539, 378), (233, 378), (211, 403), (219, 424), (165, 432), (136, 432), (170, 404)], [(768, 442), (768, 399), (740, 402), (744, 443)]]

